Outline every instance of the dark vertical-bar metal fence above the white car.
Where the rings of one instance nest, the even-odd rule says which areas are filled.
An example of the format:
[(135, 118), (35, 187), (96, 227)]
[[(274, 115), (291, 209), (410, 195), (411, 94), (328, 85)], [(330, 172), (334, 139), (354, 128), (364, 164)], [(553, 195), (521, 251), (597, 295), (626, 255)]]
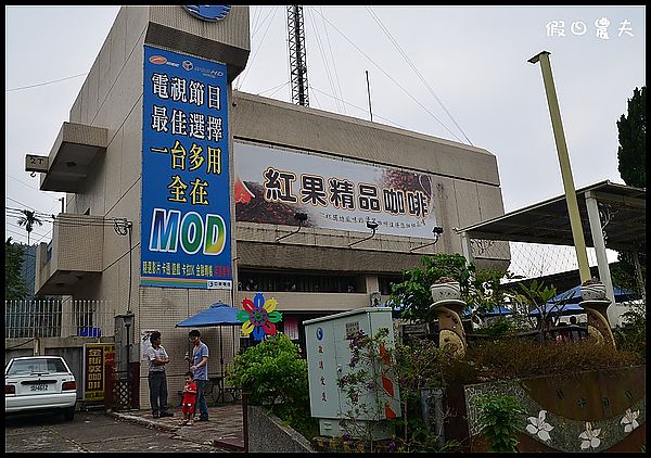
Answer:
[(5, 301), (4, 339), (114, 335), (110, 301)]

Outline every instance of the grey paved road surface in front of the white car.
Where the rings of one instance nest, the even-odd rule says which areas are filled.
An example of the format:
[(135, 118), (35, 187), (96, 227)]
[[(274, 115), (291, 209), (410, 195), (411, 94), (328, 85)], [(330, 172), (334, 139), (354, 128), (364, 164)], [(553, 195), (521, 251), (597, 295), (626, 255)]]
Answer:
[(226, 451), (201, 437), (178, 436), (103, 411), (78, 411), (73, 421), (41, 414), (4, 418), (4, 451)]

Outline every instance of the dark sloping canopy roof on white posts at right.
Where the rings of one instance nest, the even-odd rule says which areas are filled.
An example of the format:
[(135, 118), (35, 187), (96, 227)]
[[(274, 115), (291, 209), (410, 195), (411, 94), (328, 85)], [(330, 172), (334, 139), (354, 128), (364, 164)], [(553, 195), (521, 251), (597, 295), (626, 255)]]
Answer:
[[(605, 247), (646, 251), (646, 189), (605, 180), (576, 190), (586, 245), (595, 246), (586, 207), (590, 194), (599, 202), (601, 224), (607, 222)], [(475, 240), (574, 245), (564, 194), (459, 230), (463, 231)]]

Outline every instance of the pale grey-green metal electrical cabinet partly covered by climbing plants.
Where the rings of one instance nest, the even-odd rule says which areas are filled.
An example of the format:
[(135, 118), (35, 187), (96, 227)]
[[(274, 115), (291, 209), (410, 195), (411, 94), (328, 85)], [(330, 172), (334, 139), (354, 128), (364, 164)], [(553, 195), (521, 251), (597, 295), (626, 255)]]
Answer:
[[(344, 431), (340, 420), (352, 411), (346, 396), (346, 387), (340, 390), (337, 381), (352, 372), (363, 369), (369, 374), (375, 372), (374, 389), (361, 390), (357, 405), (366, 406), (368, 412), (357, 416), (356, 423), (370, 431), (373, 440), (387, 438), (394, 433), (391, 420), (400, 416), (400, 395), (397, 380), (393, 380), (392, 365), (379, 364), (373, 367), (366, 362), (350, 368), (348, 344), (360, 330), (371, 338), (382, 328), (388, 329), (386, 347), (395, 346), (394, 327), (390, 307), (365, 307), (328, 317), (303, 321), (305, 325), (309, 398), (311, 416), (319, 419), (319, 433), (323, 436), (339, 436)], [(371, 376), (372, 377), (372, 376)], [(381, 406), (376, 409), (376, 406)]]

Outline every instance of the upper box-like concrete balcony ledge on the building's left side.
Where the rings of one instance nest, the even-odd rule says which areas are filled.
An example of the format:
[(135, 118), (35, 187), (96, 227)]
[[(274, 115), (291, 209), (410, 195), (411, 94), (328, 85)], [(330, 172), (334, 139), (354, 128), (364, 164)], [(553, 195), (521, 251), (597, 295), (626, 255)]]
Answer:
[(108, 145), (108, 130), (85, 124), (63, 123), (41, 174), (40, 190), (77, 193)]

